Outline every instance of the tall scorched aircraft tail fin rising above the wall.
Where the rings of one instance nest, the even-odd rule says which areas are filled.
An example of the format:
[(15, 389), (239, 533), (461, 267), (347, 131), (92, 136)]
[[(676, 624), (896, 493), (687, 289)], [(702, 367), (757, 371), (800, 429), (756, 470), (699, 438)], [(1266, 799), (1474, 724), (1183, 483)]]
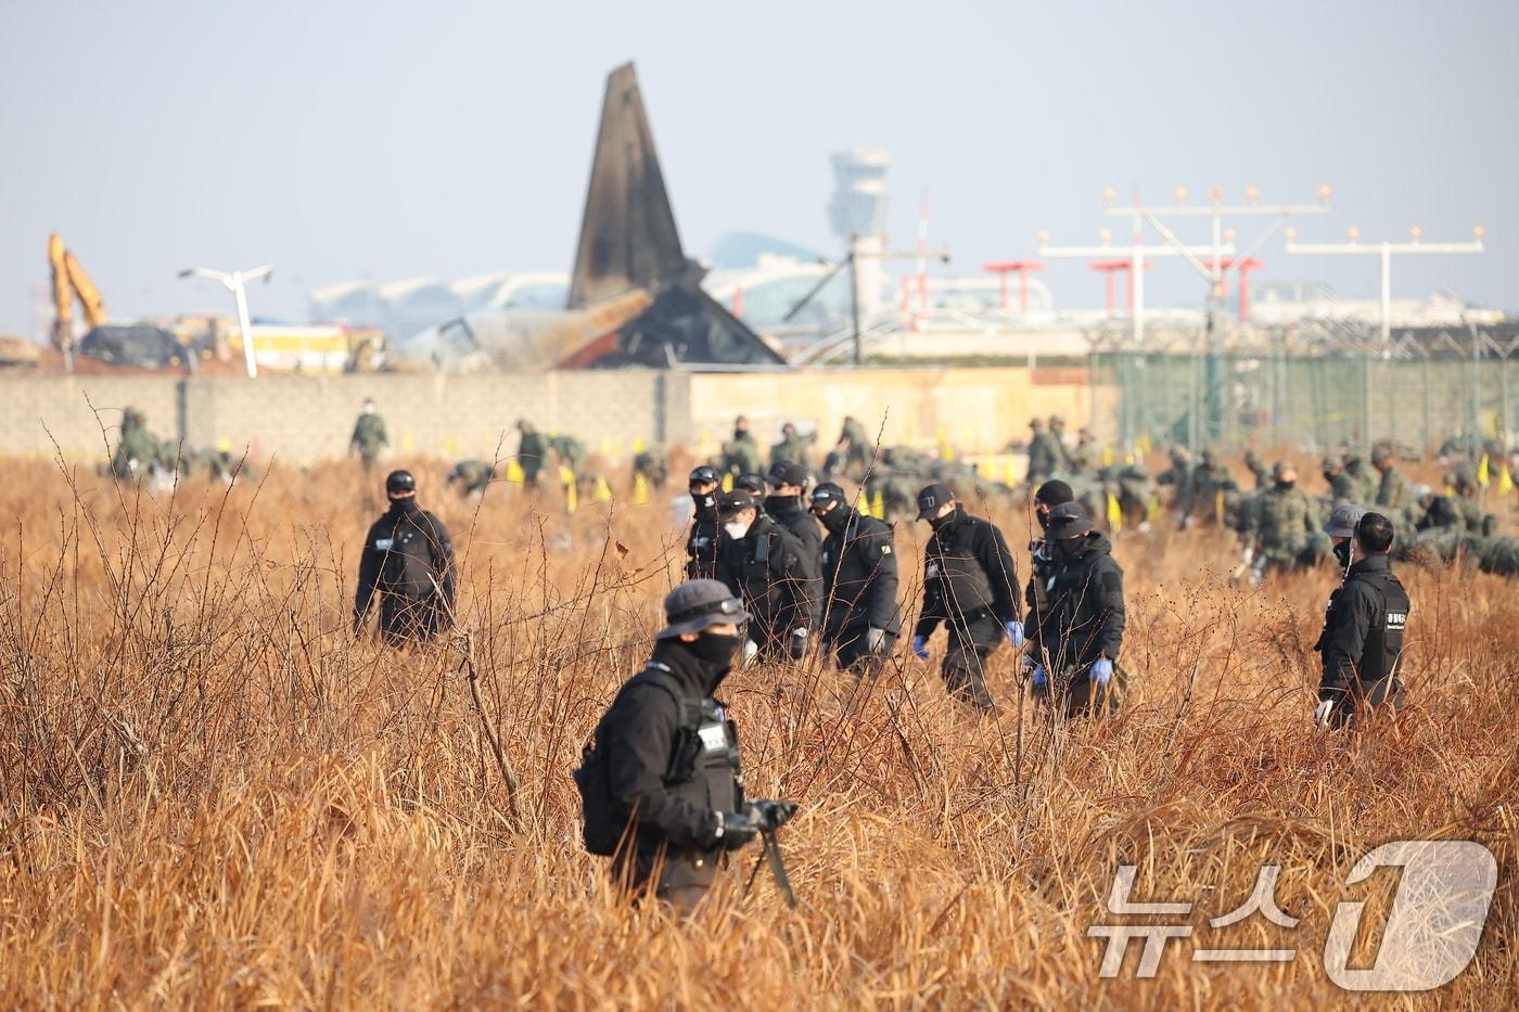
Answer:
[(606, 79), (602, 131), (580, 220), (570, 308), (630, 289), (653, 289), (687, 270), (659, 155), (632, 64)]

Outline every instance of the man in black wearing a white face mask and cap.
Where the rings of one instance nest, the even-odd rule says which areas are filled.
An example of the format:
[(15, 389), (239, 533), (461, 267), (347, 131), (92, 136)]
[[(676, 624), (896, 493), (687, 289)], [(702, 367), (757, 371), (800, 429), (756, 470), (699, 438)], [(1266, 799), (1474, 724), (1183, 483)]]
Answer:
[(749, 492), (725, 492), (717, 515), (723, 523), (717, 579), (749, 609), (746, 656), (785, 652), (802, 659), (819, 618), (817, 559), (808, 559), (794, 533), (760, 512)]

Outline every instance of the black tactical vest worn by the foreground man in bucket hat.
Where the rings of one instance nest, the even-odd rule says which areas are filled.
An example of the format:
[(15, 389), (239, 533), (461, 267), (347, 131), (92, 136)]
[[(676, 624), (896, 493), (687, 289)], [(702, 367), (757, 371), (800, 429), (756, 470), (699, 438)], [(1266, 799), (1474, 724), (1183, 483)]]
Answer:
[[(633, 685), (655, 685), (676, 705), (676, 734), (664, 772), (665, 787), (674, 789), (684, 799), (706, 811), (737, 811), (743, 807), (738, 728), (728, 719), (723, 705), (711, 696), (687, 696), (670, 667), (659, 661), (649, 661), (643, 672), (629, 679), (618, 691), (618, 699)], [(585, 849), (603, 857), (615, 854), (627, 825), (617, 816), (612, 802), (611, 770), (600, 725), (580, 755), (574, 781), (580, 790)]]

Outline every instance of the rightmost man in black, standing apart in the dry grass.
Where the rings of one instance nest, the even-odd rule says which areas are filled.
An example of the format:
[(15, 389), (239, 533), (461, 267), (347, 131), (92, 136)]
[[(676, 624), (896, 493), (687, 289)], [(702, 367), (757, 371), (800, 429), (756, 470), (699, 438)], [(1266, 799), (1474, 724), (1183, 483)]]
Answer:
[(1393, 521), (1364, 514), (1350, 527), (1347, 520), (1337, 509), (1326, 529), (1335, 539), (1335, 556), (1349, 568), (1329, 596), (1325, 629), (1314, 644), (1323, 658), (1314, 720), (1326, 728), (1343, 728), (1378, 707), (1396, 711), (1404, 702), (1397, 661), (1408, 625), (1408, 593), (1388, 559)]

